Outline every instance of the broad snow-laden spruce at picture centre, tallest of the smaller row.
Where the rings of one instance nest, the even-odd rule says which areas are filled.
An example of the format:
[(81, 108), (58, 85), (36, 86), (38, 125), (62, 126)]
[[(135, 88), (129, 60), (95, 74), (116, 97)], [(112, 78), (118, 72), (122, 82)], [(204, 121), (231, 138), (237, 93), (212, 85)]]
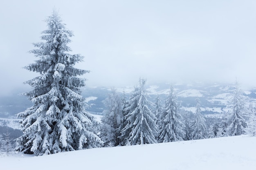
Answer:
[(155, 115), (151, 112), (148, 101), (148, 93), (145, 89), (145, 79), (139, 79), (139, 87), (130, 96), (128, 105), (125, 108), (126, 126), (121, 131), (121, 140), (126, 141), (126, 145), (153, 144), (157, 143), (157, 124)]

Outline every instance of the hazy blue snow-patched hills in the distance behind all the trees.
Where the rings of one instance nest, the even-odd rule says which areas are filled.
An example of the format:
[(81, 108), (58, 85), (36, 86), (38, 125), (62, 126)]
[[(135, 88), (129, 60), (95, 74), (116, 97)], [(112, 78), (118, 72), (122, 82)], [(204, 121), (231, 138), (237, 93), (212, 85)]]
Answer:
[[(148, 84), (146, 86), (150, 94), (150, 100), (155, 101), (157, 95), (162, 98), (162, 104), (170, 91), (171, 84)], [(193, 111), (195, 107), (195, 99), (201, 100), (203, 114), (215, 114), (229, 112), (230, 101), (233, 97), (235, 86), (233, 84), (173, 84), (178, 99), (181, 101), (182, 108)], [(82, 95), (89, 104), (87, 110), (92, 114), (101, 115), (106, 107), (103, 100), (108, 97), (109, 87), (88, 87), (82, 89)], [(117, 92), (121, 95), (126, 94), (128, 99), (134, 87), (117, 87)], [(256, 104), (256, 89), (244, 91), (245, 102)], [(13, 117), (19, 112), (32, 106), (32, 103), (25, 97), (12, 94), (7, 97), (0, 97), (0, 117)], [(14, 118), (14, 117), (13, 117)]]

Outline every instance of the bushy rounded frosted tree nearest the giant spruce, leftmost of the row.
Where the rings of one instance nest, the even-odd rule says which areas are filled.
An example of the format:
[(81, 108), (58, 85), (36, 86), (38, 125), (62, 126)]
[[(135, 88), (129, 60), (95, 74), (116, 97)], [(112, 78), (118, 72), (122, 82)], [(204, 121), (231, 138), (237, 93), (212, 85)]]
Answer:
[(104, 141), (104, 146), (118, 146), (119, 136), (121, 132), (119, 126), (121, 125), (121, 120), (123, 119), (123, 106), (121, 103), (121, 98), (116, 93), (113, 88), (105, 99), (104, 104), (106, 110), (103, 111), (103, 117), (101, 119), (101, 139)]

